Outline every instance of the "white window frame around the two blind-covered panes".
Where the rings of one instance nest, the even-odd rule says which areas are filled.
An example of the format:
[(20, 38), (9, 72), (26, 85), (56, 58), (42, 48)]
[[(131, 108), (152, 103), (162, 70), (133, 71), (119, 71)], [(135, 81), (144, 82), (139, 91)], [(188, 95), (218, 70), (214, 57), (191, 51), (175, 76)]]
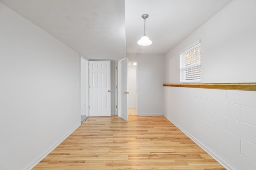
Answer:
[[(193, 51), (194, 49), (196, 49), (198, 47), (201, 48), (201, 42), (200, 41), (197, 42), (196, 44), (192, 45), (192, 47), (190, 46), (186, 50), (184, 50), (180, 53), (180, 83), (201, 83), (201, 49), (200, 49), (200, 62), (190, 64), (188, 66), (184, 66), (184, 63), (185, 63), (184, 60), (185, 60), (186, 53), (188, 53), (190, 51)], [(198, 66), (200, 67), (200, 78), (198, 78), (196, 80), (184, 80), (184, 79), (186, 79), (186, 76), (183, 77), (182, 72), (184, 72), (184, 70), (188, 70), (188, 69), (191, 69), (191, 68), (196, 68)]]

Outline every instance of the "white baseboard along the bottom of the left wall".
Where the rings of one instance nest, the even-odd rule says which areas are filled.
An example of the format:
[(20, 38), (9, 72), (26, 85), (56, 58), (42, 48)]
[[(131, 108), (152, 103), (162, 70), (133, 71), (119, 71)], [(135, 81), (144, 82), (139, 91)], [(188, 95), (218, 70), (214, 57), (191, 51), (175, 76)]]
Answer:
[(54, 150), (60, 143), (62, 143), (71, 133), (73, 133), (81, 123), (76, 125), (73, 129), (71, 129), (66, 135), (64, 135), (62, 138), (60, 138), (56, 143), (54, 143), (49, 149), (47, 149), (45, 152), (43, 152), (38, 158), (36, 158), (33, 162), (31, 162), (26, 168), (23, 170), (31, 170), (34, 166), (36, 166), (45, 156), (47, 156), (52, 150)]

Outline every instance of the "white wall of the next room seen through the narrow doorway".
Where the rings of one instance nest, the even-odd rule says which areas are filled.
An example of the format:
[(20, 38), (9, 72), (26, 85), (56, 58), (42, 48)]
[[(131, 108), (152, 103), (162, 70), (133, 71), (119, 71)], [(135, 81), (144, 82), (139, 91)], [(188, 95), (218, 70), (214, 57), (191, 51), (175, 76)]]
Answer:
[(127, 73), (127, 91), (130, 92), (127, 95), (127, 107), (136, 108), (137, 103), (137, 66), (128, 63)]

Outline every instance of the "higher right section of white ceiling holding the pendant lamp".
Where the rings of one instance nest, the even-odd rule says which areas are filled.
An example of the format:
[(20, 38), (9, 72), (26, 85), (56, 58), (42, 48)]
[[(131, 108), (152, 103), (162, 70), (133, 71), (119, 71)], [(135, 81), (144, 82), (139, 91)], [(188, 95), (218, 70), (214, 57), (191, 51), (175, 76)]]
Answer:
[[(126, 0), (126, 52), (134, 54), (166, 54), (200, 25), (209, 20), (232, 0)], [(140, 46), (137, 41), (144, 35), (152, 41)]]

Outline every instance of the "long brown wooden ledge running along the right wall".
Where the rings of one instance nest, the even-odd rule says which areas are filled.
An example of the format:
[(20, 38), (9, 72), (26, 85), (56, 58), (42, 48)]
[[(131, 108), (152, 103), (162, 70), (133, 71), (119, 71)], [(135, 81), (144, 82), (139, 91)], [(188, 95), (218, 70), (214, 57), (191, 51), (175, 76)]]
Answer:
[(164, 84), (164, 86), (256, 91), (256, 83)]

